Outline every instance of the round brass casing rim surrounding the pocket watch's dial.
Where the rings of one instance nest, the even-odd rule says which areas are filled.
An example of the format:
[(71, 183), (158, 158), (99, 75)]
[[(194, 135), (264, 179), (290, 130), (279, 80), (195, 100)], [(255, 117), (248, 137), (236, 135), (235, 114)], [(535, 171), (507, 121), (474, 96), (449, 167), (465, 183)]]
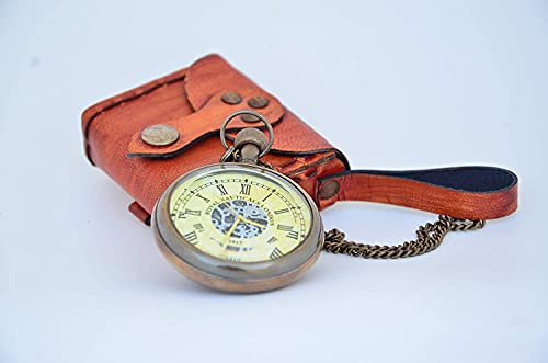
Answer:
[[(170, 217), (169, 201), (176, 186), (208, 169), (243, 168), (262, 171), (267, 177), (282, 179), (306, 200), (312, 215), (309, 234), (292, 252), (270, 261), (236, 262), (215, 258), (184, 240)], [(254, 293), (279, 288), (299, 279), (318, 259), (323, 246), (323, 226), (312, 198), (289, 178), (260, 166), (249, 163), (215, 163), (187, 172), (163, 192), (152, 213), (155, 239), (168, 261), (186, 277), (212, 288), (236, 293)]]

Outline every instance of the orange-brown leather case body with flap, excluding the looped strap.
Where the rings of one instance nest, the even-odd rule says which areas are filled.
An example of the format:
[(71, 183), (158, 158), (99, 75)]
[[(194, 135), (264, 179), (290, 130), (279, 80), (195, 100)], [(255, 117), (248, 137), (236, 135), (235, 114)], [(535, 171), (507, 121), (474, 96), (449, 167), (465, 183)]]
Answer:
[[(242, 101), (225, 103), (221, 97), (227, 92), (240, 94)], [(331, 144), (218, 55), (85, 110), (82, 129), (88, 158), (135, 198), (129, 209), (147, 222), (171, 182), (192, 169), (219, 161), (225, 152), (218, 136), (222, 121), (236, 111), (253, 110), (248, 101), (254, 97), (269, 100), (265, 107), (255, 111), (272, 123), (275, 135), (263, 161), (310, 195), (316, 194), (318, 178), (349, 168)], [(144, 143), (141, 131), (155, 124), (176, 128), (179, 140), (163, 147)], [(228, 134), (260, 126), (260, 122), (236, 118)]]

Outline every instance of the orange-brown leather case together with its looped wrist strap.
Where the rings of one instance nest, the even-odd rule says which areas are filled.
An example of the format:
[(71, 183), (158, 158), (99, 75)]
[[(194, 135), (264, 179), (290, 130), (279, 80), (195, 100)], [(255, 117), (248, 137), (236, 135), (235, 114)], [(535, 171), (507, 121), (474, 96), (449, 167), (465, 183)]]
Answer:
[[(242, 101), (224, 102), (227, 92), (238, 93)], [(350, 170), (341, 151), (218, 55), (85, 110), (85, 152), (135, 198), (129, 209), (148, 224), (155, 203), (171, 182), (219, 161), (225, 152), (218, 137), (222, 121), (236, 111), (252, 109), (248, 102), (255, 97), (269, 100), (254, 111), (272, 123), (275, 135), (271, 152), (262, 160), (299, 183), (320, 209), (357, 200), (484, 219), (517, 208), (517, 177), (504, 169)], [(144, 143), (142, 129), (156, 124), (176, 128), (179, 139), (162, 147)], [(261, 123), (235, 118), (228, 134), (233, 137), (250, 126)]]

